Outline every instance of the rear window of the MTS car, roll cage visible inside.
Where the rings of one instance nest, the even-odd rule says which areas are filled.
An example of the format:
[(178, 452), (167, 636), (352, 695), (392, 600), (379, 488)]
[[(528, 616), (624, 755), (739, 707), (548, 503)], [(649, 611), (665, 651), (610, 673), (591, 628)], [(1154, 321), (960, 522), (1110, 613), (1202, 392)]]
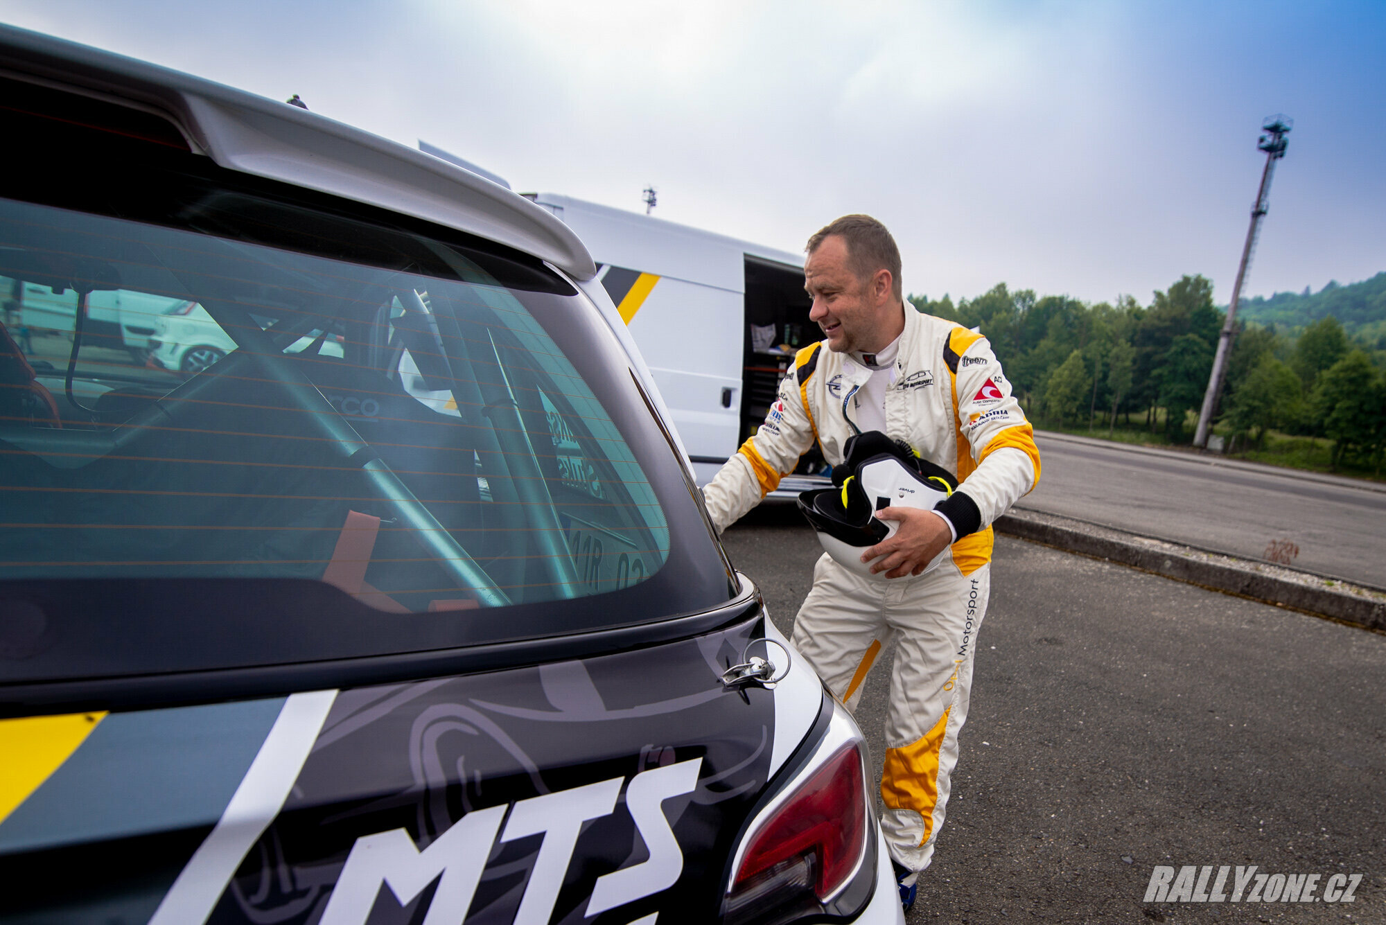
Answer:
[[(197, 580), (294, 579), (340, 593), (295, 618), (287, 647), (219, 659), (236, 627), (216, 625), (207, 651), (148, 670), (725, 602), (676, 457), (559, 274), (198, 155), (123, 162), (144, 177), (119, 161), (0, 199), (6, 586), (164, 580), (187, 595)], [(158, 192), (141, 202), (118, 173)], [(344, 600), (378, 634), (330, 641)], [(183, 609), (198, 619), (195, 597)], [(137, 613), (119, 619), (141, 631)], [(466, 633), (439, 634), (449, 623)], [(299, 631), (315, 625), (322, 640)]]

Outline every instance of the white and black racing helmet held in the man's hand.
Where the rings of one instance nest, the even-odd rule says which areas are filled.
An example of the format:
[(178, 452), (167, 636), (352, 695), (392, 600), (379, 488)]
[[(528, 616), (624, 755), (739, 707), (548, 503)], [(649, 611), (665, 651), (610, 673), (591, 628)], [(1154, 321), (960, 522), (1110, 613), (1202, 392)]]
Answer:
[[(876, 511), (884, 507), (931, 511), (954, 493), (958, 481), (941, 465), (919, 458), (909, 444), (879, 431), (848, 438), (843, 451), (845, 460), (833, 468), (834, 487), (801, 492), (798, 510), (834, 562), (863, 577), (886, 580), (884, 572), (870, 572), (879, 558), (861, 561), (862, 550), (900, 529), (900, 521), (881, 521)], [(945, 547), (924, 572), (933, 571), (947, 554)]]

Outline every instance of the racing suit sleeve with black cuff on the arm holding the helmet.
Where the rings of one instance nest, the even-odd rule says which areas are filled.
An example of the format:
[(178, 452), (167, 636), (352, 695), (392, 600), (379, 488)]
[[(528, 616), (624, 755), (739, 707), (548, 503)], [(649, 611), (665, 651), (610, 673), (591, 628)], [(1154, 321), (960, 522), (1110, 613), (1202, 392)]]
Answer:
[(958, 432), (958, 490), (938, 505), (958, 536), (990, 525), (1040, 481), (1040, 450), (991, 343), (954, 328), (944, 348)]

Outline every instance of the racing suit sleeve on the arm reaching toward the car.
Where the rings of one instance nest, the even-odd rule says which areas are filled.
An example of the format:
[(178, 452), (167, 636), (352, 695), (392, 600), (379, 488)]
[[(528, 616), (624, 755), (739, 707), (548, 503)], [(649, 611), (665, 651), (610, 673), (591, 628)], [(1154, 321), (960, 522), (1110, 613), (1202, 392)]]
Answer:
[(794, 356), (794, 366), (780, 381), (779, 396), (765, 422), (728, 460), (703, 489), (707, 512), (721, 533), (779, 486), (794, 471), (798, 457), (814, 446), (818, 429), (808, 410), (807, 385), (818, 364), (815, 343)]

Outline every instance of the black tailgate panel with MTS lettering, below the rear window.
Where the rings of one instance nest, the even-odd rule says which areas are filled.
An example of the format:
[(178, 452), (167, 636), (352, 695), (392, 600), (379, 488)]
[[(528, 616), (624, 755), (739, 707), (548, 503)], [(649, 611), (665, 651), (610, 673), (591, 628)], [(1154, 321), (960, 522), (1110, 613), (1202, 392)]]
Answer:
[[(728, 690), (721, 673), (761, 629), (757, 618), (631, 652), (337, 694), (283, 809), (234, 864), (208, 921), (319, 921), (362, 838), (402, 829), (427, 867), (437, 863), (428, 846), (468, 813), (509, 806), (514, 817), (524, 800), (595, 784), (620, 796), (582, 825), (557, 882), (531, 877), (554, 835), (500, 841), (496, 820), (499, 832), (467, 845), (485, 868), (466, 921), (516, 921), (531, 890), (554, 893), (556, 922), (631, 922), (660, 910), (678, 921), (715, 918), (718, 896), (707, 886), (725, 875), (768, 781), (775, 731), (773, 694)], [(0, 827), (0, 865), (54, 888), (7, 890), (0, 921), (146, 921), (218, 824), (283, 706), (274, 698), (101, 719)], [(589, 919), (597, 878), (649, 861), (647, 842), (663, 850), (660, 832), (642, 832), (626, 806), (631, 781), (679, 764), (696, 787), (661, 802), (678, 845), (676, 882)], [(657, 861), (667, 868), (667, 856)], [(83, 871), (80, 889), (54, 882), (73, 870)], [(369, 865), (356, 870), (370, 877)], [(377, 883), (376, 913), (359, 910), (359, 921), (420, 921), (434, 879), (409, 896)]]

